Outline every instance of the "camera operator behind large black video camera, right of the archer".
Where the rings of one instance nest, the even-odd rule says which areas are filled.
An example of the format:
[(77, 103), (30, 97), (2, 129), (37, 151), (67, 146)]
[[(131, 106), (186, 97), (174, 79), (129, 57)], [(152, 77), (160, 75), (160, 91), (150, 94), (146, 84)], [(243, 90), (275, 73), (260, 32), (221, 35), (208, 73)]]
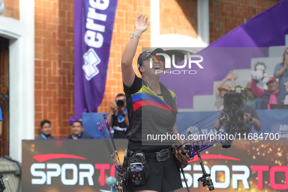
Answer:
[[(238, 95), (237, 95), (238, 93)], [(230, 89), (228, 94), (224, 96), (224, 106), (230, 105), (231, 101), (233, 101), (239, 107), (239, 119), (237, 125), (237, 135), (240, 133), (241, 135), (250, 134), (251, 127), (254, 126), (256, 131), (261, 130), (261, 124), (259, 121), (259, 116), (255, 109), (246, 104), (246, 98), (248, 96), (247, 89), (242, 88), (241, 86), (237, 86), (235, 89)], [(238, 101), (238, 102), (237, 102)], [(221, 115), (216, 123), (214, 124), (214, 129), (219, 131), (221, 126), (224, 124), (225, 132), (230, 129), (230, 121), (229, 117), (226, 114)], [(236, 135), (236, 136), (237, 136)]]

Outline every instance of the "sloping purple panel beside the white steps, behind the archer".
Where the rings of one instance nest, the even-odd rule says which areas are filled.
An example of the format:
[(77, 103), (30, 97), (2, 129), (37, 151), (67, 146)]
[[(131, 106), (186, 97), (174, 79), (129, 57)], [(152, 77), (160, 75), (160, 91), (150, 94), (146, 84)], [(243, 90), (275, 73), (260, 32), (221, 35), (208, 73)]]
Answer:
[[(226, 77), (230, 70), (250, 69), (251, 58), (267, 57), (269, 46), (285, 45), (285, 35), (288, 34), (287, 8), (288, 0), (282, 0), (198, 52), (197, 55), (204, 58), (201, 63), (204, 69), (196, 66), (196, 75), (174, 75), (176, 78), (169, 74), (162, 75), (160, 81), (176, 94), (178, 108), (193, 108), (193, 96), (212, 95), (213, 82)], [(222, 49), (217, 49), (220, 47)], [(257, 50), (253, 47), (266, 48)], [(171, 68), (172, 71), (174, 69)]]

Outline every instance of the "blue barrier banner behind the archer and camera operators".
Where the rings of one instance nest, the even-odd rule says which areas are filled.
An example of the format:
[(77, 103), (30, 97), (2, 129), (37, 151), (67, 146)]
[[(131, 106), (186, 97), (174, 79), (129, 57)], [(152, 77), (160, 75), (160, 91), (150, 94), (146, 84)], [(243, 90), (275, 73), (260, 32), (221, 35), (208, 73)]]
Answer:
[[(261, 124), (261, 130), (258, 132), (253, 127), (251, 128), (251, 134), (257, 134), (267, 137), (272, 137), (272, 135), (278, 138), (288, 138), (288, 110), (256, 110)], [(208, 121), (213, 119), (217, 116), (215, 114), (213, 117), (208, 119), (207, 121), (203, 121), (201, 123), (192, 124), (204, 119), (205, 117), (211, 116), (215, 114), (215, 112), (179, 112), (177, 114), (177, 122), (175, 123), (175, 127), (178, 130), (179, 134), (187, 135), (188, 131), (194, 133), (195, 130), (199, 130), (196, 134), (204, 134), (204, 135), (211, 135), (215, 134), (217, 131), (213, 128), (213, 124), (216, 122), (217, 118), (214, 121)], [(86, 134), (92, 135), (96, 139), (101, 139), (102, 135), (100, 134), (99, 130), (97, 129), (96, 123), (99, 122), (99, 119), (103, 119), (102, 113), (83, 113), (82, 114), (82, 123), (84, 127), (84, 132)], [(205, 125), (206, 124), (206, 125)], [(204, 125), (204, 126), (203, 126)], [(203, 126), (203, 127), (202, 127)], [(203, 129), (207, 127), (206, 129)], [(224, 131), (224, 127), (220, 129), (220, 131)], [(108, 131), (106, 129), (107, 135)], [(271, 135), (270, 135), (271, 134)], [(248, 135), (247, 135), (248, 139)], [(275, 139), (269, 139), (275, 140)], [(288, 144), (288, 143), (287, 143)], [(280, 145), (278, 143), (278, 145)]]

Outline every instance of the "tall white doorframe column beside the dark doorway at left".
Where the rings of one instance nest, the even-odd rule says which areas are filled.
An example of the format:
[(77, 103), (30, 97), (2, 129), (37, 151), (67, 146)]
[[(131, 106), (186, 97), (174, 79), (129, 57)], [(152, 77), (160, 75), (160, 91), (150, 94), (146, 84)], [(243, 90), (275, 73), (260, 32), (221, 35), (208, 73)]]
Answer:
[(0, 36), (9, 46), (9, 153), (21, 162), (22, 139), (35, 132), (34, 0), (19, 1), (20, 20), (0, 17)]

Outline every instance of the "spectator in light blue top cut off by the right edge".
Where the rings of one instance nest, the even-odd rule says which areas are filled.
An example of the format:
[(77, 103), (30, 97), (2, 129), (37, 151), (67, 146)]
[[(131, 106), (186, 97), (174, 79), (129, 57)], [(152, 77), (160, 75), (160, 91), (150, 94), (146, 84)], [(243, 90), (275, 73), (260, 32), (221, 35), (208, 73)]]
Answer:
[(279, 78), (279, 90), (286, 91), (285, 83), (288, 83), (288, 48), (284, 52), (283, 62), (275, 67), (274, 77)]

